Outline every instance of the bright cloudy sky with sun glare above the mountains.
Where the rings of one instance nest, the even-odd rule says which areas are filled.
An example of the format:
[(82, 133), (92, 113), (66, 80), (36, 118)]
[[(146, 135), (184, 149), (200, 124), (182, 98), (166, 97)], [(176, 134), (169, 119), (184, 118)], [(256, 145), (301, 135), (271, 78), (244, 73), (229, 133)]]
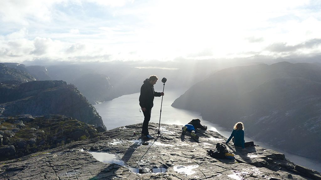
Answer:
[(321, 57), (321, 0), (0, 4), (0, 62)]

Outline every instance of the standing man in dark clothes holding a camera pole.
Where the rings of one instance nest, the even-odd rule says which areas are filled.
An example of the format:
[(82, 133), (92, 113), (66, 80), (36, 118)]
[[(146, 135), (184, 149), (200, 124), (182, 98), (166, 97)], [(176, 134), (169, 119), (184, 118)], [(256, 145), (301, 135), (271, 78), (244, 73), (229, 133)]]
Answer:
[(141, 94), (139, 96), (139, 105), (141, 106), (144, 113), (142, 136), (146, 136), (149, 139), (154, 139), (154, 137), (149, 135), (148, 132), (148, 123), (149, 120), (151, 120), (154, 97), (160, 97), (164, 95), (163, 92), (158, 93), (154, 91), (154, 84), (156, 84), (157, 80), (158, 78), (155, 75), (150, 76), (149, 79), (145, 79), (144, 84), (141, 87)]

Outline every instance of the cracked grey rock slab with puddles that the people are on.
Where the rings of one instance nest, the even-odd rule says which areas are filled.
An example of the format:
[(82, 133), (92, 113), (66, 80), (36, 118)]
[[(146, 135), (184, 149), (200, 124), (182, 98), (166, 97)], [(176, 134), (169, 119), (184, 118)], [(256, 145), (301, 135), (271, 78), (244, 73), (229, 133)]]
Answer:
[[(295, 165), (284, 154), (259, 146), (243, 152), (230, 143), (228, 149), (235, 154), (235, 160), (211, 158), (207, 150), (226, 141), (214, 131), (199, 130), (201, 143), (197, 143), (188, 135), (181, 136), (181, 126), (162, 124), (160, 128), (166, 139), (143, 142), (139, 133), (135, 133), (141, 127), (142, 124), (119, 127), (91, 139), (3, 161), (0, 178), (321, 179), (319, 172)], [(150, 128), (157, 132), (158, 124), (150, 123)], [(161, 173), (153, 173), (160, 169)]]

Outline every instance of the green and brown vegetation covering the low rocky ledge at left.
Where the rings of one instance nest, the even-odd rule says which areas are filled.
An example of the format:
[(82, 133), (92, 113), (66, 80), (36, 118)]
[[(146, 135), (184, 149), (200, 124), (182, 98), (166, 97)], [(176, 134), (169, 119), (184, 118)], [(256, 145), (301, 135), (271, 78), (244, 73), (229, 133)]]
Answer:
[[(44, 116), (37, 117), (30, 122), (23, 122), (15, 135), (4, 137), (3, 145), (14, 145), (16, 156), (21, 157), (38, 151), (62, 146), (79, 140), (88, 139), (97, 134), (93, 126), (82, 123), (77, 119), (66, 118), (60, 115), (51, 115), (50, 119)], [(3, 129), (13, 129), (16, 119), (0, 119)], [(10, 128), (11, 127), (11, 128)], [(44, 152), (48, 153), (48, 152)], [(37, 156), (34, 154), (32, 156)]]

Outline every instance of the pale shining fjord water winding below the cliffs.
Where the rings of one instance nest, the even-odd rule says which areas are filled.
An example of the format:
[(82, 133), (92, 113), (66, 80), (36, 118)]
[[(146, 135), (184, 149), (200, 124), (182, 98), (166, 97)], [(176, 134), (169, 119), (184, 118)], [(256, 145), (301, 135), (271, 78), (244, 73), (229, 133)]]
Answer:
[[(198, 118), (201, 119), (202, 125), (208, 127), (209, 130), (216, 131), (223, 135), (224, 137), (230, 136), (230, 131), (226, 131), (217, 124), (206, 121), (202, 118), (200, 113), (189, 110), (181, 110), (171, 106), (171, 104), (177, 99), (181, 94), (184, 94), (185, 90), (168, 90), (164, 91), (165, 96), (163, 97), (162, 102), (162, 112), (160, 119), (160, 104), (161, 97), (155, 97), (154, 107), (152, 108), (152, 117), (150, 122), (162, 124), (176, 124), (176, 125), (185, 125), (190, 120)], [(103, 102), (101, 104), (94, 105), (99, 115), (102, 117), (102, 120), (108, 130), (114, 129), (117, 127), (127, 126), (131, 124), (142, 123), (144, 119), (143, 112), (139, 112), (139, 93), (128, 94), (113, 99), (112, 101)], [(142, 111), (142, 110), (140, 110)], [(209, 119), (210, 120), (210, 119)], [(231, 125), (231, 127), (234, 124)], [(246, 127), (246, 125), (245, 125)], [(232, 130), (232, 129), (231, 129)], [(157, 130), (150, 128), (150, 133), (157, 133)], [(181, 129), (178, 129), (181, 131)], [(141, 132), (136, 132), (140, 134)], [(245, 130), (246, 133), (246, 130)], [(245, 137), (245, 141), (252, 141), (251, 138)], [(266, 149), (273, 149), (285, 154), (285, 157), (288, 160), (291, 160), (295, 164), (305, 166), (314, 170), (321, 172), (321, 162), (310, 160), (302, 156), (294, 155), (289, 152), (285, 152), (281, 149), (271, 147), (268, 144), (254, 141), (256, 145), (260, 145)], [(312, 147), (311, 147), (312, 148)]]

